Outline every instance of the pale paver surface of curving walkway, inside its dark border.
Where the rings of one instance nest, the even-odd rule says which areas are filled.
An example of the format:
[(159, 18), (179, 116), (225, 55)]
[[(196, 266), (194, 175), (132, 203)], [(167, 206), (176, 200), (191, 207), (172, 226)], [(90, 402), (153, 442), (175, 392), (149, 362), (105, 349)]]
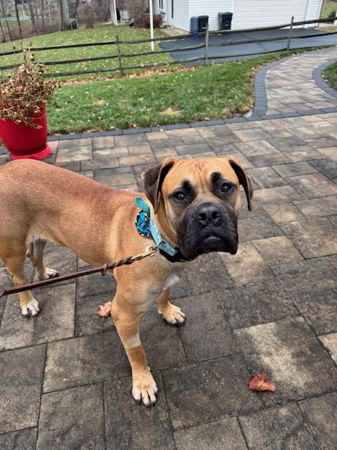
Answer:
[(315, 68), (337, 60), (337, 47), (298, 55), (267, 71), (267, 115), (335, 108), (336, 91), (330, 94), (317, 84)]

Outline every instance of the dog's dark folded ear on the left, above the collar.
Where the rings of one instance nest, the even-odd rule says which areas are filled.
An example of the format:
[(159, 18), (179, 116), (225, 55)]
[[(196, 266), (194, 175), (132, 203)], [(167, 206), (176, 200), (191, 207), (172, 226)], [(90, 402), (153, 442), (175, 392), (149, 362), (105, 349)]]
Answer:
[(152, 167), (143, 173), (144, 191), (153, 205), (154, 214), (157, 214), (158, 210), (161, 185), (175, 162), (176, 160), (173, 160), (173, 158), (166, 158), (161, 164)]

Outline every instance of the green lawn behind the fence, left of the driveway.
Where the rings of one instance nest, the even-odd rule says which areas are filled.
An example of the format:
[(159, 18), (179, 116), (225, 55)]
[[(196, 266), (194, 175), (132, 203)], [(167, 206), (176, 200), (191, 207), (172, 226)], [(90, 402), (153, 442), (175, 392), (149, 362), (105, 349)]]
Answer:
[[(98, 25), (91, 29), (81, 28), (79, 30), (69, 30), (65, 32), (55, 32), (51, 34), (44, 34), (24, 40), (25, 46), (28, 41), (32, 41), (33, 46), (53, 46), (53, 45), (65, 45), (65, 44), (81, 44), (86, 42), (103, 42), (114, 41), (118, 34), (119, 40), (139, 40), (150, 39), (149, 30), (140, 30), (137, 28), (129, 28), (127, 25), (115, 26), (112, 24)], [(154, 30), (155, 37), (167, 36), (161, 30)], [(1, 44), (1, 51), (11, 51), (13, 46), (20, 49), (21, 41), (6, 42)], [(159, 46), (155, 44), (155, 49), (160, 50)], [(121, 53), (139, 53), (141, 51), (150, 51), (150, 43), (144, 44), (127, 44), (121, 45)], [(93, 56), (112, 56), (117, 54), (117, 46), (92, 46), (92, 47), (79, 47), (75, 49), (57, 49), (48, 51), (37, 51), (35, 57), (37, 61), (51, 61), (51, 60), (69, 60), (77, 58), (90, 58)], [(21, 56), (10, 55), (1, 56), (0, 54), (0, 66), (20, 63)], [(171, 60), (169, 53), (160, 53), (159, 55), (147, 55), (138, 56), (133, 58), (125, 58), (123, 65), (139, 65), (141, 63), (157, 63), (159, 61)], [(106, 59), (98, 61), (89, 61), (83, 63), (72, 63), (50, 66), (49, 72), (68, 72), (70, 70), (90, 70), (95, 68), (111, 68), (118, 65), (117, 59)], [(106, 72), (105, 72), (106, 73)], [(99, 74), (98, 74), (99, 75)], [(95, 74), (89, 75), (77, 75), (76, 79), (84, 77), (94, 77)], [(65, 77), (62, 77), (65, 79)]]

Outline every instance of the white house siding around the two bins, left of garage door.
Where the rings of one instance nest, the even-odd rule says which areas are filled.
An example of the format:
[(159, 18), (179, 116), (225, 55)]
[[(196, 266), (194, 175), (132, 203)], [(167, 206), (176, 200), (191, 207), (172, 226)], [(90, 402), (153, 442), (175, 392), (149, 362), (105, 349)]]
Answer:
[[(179, 0), (176, 0), (179, 1)], [(190, 0), (190, 17), (209, 16), (209, 30), (218, 30), (218, 13), (232, 13), (234, 0)]]

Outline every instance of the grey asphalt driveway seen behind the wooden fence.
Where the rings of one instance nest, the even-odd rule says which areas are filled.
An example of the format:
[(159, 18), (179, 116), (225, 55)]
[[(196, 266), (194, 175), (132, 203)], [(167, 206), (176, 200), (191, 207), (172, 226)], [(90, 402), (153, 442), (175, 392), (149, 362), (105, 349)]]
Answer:
[[(209, 47), (209, 59), (213, 56), (223, 56), (217, 60), (233, 60), (246, 59), (251, 55), (260, 56), (265, 52), (273, 53), (277, 50), (283, 50), (286, 47), (286, 39), (289, 29), (282, 30), (260, 30), (253, 32), (232, 32), (225, 35), (216, 35), (209, 37), (210, 44), (223, 44), (225, 41), (246, 41), (251, 40), (249, 44), (233, 44), (231, 46), (212, 46)], [(306, 37), (315, 34), (315, 37)], [(315, 47), (324, 45), (337, 44), (337, 34), (324, 35), (324, 32), (319, 30), (296, 28), (293, 30), (293, 39), (291, 39), (291, 49), (302, 49), (303, 47)], [(279, 37), (277, 41), (253, 42), (256, 39), (270, 39), (271, 37)], [(176, 41), (163, 41), (159, 44), (161, 49), (171, 51), (173, 49), (185, 48), (189, 46), (196, 46), (204, 44), (204, 37), (187, 37), (185, 39), (177, 39)], [(248, 53), (248, 56), (236, 55)], [(170, 53), (175, 60), (184, 60), (187, 58), (197, 58), (200, 56), (200, 62), (204, 59), (204, 49), (197, 50), (183, 50), (173, 51)], [(197, 61), (198, 63), (198, 61)], [(194, 61), (193, 64), (196, 64)]]

